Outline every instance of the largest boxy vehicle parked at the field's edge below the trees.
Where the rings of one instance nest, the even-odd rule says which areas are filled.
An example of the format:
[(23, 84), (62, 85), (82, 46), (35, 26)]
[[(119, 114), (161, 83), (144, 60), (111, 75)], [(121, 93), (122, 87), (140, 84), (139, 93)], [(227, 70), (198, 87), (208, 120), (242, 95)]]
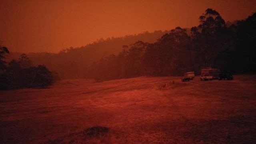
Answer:
[(201, 80), (213, 80), (218, 79), (220, 70), (216, 68), (203, 68), (201, 70)]

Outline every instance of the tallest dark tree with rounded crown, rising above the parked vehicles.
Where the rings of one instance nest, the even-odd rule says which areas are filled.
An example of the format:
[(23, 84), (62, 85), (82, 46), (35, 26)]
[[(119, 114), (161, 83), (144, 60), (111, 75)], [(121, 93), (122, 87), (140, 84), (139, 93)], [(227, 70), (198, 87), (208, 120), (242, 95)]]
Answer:
[(213, 67), (220, 50), (226, 46), (226, 24), (216, 10), (208, 8), (199, 17), (198, 27), (191, 28), (194, 50), (197, 52), (199, 67)]

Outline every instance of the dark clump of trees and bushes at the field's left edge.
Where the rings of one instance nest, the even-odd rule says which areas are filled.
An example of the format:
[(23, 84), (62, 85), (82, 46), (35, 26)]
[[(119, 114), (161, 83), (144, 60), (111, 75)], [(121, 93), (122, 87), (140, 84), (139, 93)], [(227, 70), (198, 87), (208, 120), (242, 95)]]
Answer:
[(52, 84), (52, 72), (45, 66), (33, 66), (26, 54), (7, 63), (4, 58), (9, 53), (6, 47), (0, 46), (0, 90), (44, 88)]

